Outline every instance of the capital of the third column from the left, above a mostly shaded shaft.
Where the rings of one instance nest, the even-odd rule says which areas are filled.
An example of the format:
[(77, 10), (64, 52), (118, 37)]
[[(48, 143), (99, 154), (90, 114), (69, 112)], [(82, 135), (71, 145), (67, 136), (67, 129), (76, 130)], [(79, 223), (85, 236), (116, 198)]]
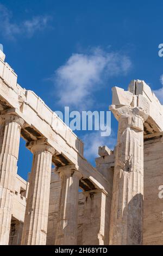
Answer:
[(60, 177), (63, 176), (77, 176), (79, 179), (82, 179), (83, 175), (76, 168), (75, 164), (69, 164), (67, 166), (62, 166), (57, 169), (57, 173), (59, 173)]

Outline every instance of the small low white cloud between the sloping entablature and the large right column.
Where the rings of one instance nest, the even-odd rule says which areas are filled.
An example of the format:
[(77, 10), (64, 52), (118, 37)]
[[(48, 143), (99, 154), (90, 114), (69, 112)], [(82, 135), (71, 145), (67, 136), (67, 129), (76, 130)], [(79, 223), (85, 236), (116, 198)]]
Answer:
[(84, 142), (84, 156), (89, 161), (98, 157), (99, 146), (107, 145), (113, 150), (116, 145), (114, 132), (107, 137), (102, 137), (98, 131), (88, 132), (82, 137), (82, 141)]

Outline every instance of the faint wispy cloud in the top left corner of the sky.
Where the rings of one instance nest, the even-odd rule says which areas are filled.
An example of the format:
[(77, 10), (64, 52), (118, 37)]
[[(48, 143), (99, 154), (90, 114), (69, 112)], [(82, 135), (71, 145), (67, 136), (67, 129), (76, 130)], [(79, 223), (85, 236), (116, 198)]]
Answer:
[(0, 3), (0, 29), (7, 39), (15, 39), (16, 35), (32, 36), (37, 31), (42, 31), (51, 20), (50, 16), (34, 16), (30, 20), (20, 23), (14, 22), (12, 13)]

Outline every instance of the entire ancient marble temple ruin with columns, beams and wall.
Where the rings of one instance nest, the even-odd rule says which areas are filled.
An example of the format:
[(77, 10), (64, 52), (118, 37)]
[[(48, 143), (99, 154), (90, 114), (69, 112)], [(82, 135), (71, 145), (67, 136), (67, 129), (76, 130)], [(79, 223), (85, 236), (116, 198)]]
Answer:
[[(99, 147), (94, 168), (4, 60), (0, 51), (0, 244), (163, 244), (163, 106), (149, 86), (112, 88), (117, 145)], [(29, 182), (17, 175), (20, 136), (33, 153)]]

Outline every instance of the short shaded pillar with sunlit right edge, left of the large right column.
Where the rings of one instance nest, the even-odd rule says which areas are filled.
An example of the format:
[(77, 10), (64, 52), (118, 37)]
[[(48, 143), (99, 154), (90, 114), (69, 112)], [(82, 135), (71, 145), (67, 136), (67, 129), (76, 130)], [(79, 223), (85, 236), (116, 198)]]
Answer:
[[(109, 241), (108, 194), (103, 190), (84, 192), (83, 245), (107, 245)], [(105, 229), (106, 228), (106, 229)]]

